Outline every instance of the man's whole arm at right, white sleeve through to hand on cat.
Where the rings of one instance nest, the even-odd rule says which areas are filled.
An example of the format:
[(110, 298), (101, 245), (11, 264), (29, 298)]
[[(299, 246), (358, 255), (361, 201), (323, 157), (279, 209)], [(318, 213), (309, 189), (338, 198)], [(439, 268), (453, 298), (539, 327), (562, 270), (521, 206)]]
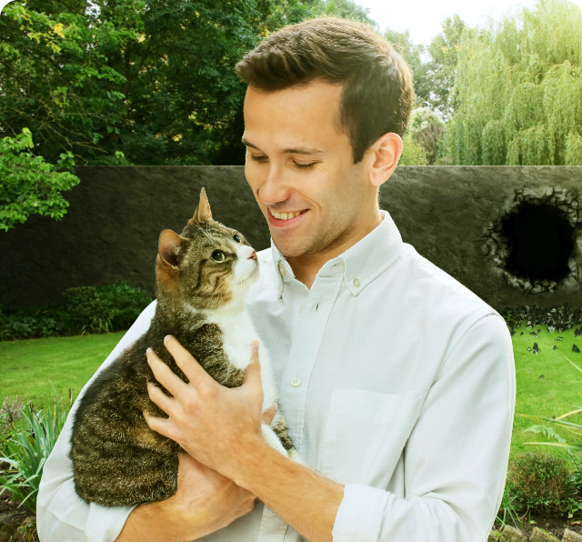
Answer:
[(406, 444), (406, 498), (342, 487), (267, 447), (254, 364), (246, 384), (227, 390), (206, 380), (176, 339), (166, 347), (190, 384), (173, 382), (166, 366), (148, 356), (174, 396), (150, 388), (170, 416), (146, 416), (150, 427), (255, 494), (311, 542), (487, 538), (503, 495), (516, 390), (511, 337), (499, 316), (477, 321), (444, 360)]

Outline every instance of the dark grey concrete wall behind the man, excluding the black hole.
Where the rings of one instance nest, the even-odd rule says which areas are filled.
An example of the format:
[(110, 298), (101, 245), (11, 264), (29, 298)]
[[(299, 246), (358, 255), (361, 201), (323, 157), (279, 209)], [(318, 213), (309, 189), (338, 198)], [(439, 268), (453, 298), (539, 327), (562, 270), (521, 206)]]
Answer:
[[(239, 229), (256, 249), (269, 246), (265, 219), (242, 166), (81, 167), (78, 175), (82, 182), (66, 193), (71, 206), (62, 221), (33, 216), (0, 232), (5, 305), (62, 301), (67, 287), (120, 278), (153, 294), (159, 233), (181, 231), (202, 186), (217, 220)], [(382, 188), (381, 205), (406, 243), (491, 306), (582, 306), (580, 186), (582, 166), (400, 167)], [(576, 240), (580, 235), (570, 258), (572, 272), (556, 286), (528, 284), (505, 269), (507, 246), (499, 221), (524, 198), (562, 206)]]

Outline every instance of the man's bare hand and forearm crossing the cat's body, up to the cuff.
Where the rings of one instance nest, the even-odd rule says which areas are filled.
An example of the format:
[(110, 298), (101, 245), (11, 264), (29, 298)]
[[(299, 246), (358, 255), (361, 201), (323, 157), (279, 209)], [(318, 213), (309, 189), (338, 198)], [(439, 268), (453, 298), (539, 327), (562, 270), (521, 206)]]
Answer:
[(147, 362), (156, 380), (172, 396), (148, 386), (150, 398), (168, 418), (145, 412), (147, 425), (175, 440), (206, 467), (245, 487), (303, 537), (331, 542), (344, 487), (266, 443), (261, 430), (263, 386), (257, 348), (243, 385), (227, 388), (209, 376), (174, 337), (164, 342), (189, 384), (148, 352)]

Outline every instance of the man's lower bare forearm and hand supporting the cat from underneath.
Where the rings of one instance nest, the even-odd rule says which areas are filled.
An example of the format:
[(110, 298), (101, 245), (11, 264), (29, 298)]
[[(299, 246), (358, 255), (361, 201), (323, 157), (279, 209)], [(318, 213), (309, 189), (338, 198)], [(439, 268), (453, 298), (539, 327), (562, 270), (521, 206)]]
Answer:
[(134, 508), (115, 542), (184, 542), (226, 527), (255, 507), (256, 497), (182, 454), (176, 495)]

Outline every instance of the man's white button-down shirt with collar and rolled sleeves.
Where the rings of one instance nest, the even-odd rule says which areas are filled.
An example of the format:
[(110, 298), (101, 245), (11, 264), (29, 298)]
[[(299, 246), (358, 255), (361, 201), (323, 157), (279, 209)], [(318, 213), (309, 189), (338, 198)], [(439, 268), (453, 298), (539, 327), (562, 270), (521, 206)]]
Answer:
[[(403, 243), (383, 216), (311, 289), (276, 246), (259, 253), (249, 310), (296, 449), (346, 485), (335, 542), (485, 542), (507, 472), (511, 336), (493, 308)], [(146, 308), (101, 368), (146, 331), (154, 311)], [(76, 496), (71, 424), (69, 416), (45, 464), (41, 541), (111, 542), (132, 508)], [(204, 540), (303, 538), (259, 504)]]

